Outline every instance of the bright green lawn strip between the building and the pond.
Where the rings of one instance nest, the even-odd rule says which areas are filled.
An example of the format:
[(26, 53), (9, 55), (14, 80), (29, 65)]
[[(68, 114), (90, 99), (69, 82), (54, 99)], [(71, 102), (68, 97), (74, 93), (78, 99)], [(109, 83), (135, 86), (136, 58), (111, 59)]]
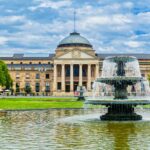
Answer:
[(76, 98), (2, 98), (0, 109), (48, 109), (48, 108), (82, 108), (83, 102)]

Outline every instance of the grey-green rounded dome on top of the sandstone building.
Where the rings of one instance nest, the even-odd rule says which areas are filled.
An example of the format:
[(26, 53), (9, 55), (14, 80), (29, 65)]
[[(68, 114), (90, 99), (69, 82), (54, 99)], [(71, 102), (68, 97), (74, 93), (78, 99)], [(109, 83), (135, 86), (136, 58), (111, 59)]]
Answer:
[(70, 33), (69, 36), (60, 41), (58, 47), (64, 46), (92, 47), (91, 43), (77, 32)]

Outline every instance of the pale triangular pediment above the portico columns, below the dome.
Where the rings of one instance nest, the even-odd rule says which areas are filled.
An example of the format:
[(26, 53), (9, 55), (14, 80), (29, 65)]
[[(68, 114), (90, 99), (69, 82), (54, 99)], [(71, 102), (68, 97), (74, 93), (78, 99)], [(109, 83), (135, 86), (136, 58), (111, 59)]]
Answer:
[(91, 59), (91, 58), (95, 57), (80, 50), (66, 52), (65, 54), (62, 54), (61, 56), (57, 57), (57, 59)]

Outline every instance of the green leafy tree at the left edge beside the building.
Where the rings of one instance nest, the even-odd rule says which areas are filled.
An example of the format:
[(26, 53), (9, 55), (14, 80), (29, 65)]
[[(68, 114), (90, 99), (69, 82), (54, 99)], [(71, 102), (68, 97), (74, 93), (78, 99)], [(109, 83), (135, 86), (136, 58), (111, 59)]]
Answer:
[(10, 77), (7, 65), (0, 61), (0, 86), (5, 89), (11, 89), (13, 85), (13, 81)]

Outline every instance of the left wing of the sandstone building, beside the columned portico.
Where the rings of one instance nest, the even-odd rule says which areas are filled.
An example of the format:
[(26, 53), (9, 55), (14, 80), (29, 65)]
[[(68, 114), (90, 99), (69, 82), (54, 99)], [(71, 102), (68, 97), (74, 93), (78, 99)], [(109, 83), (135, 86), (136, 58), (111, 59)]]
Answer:
[(52, 95), (53, 56), (24, 57), (14, 54), (12, 57), (1, 57), (13, 79), (14, 94), (24, 94), (25, 88), (30, 87), (33, 95)]

